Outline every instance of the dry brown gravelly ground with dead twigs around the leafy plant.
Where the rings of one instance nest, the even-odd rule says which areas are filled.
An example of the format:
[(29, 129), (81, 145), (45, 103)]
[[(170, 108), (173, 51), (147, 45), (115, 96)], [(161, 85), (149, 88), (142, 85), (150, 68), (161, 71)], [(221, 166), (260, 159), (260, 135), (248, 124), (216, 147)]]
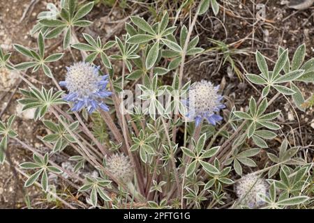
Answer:
[[(36, 14), (45, 9), (45, 3), (53, 1), (40, 1), (36, 4), (36, 7), (31, 14), (27, 15), (27, 17), (20, 22), (23, 11), (27, 8), (30, 1), (31, 0), (0, 1), (0, 45), (6, 51), (12, 50), (12, 43), (19, 43), (28, 47), (34, 46), (36, 43), (36, 38), (32, 38), (29, 35), (29, 30), (36, 22)], [(269, 59), (274, 60), (276, 59), (276, 49), (278, 48), (278, 45), (289, 47), (290, 52), (293, 52), (298, 45), (306, 43), (306, 59), (314, 56), (313, 9), (304, 10), (290, 16), (291, 13), (294, 13), (294, 10), (281, 6), (279, 3), (280, 1), (256, 0), (255, 3), (267, 3), (267, 22), (257, 22), (255, 26), (251, 26), (251, 24), (255, 22), (252, 19), (253, 4), (251, 1), (226, 2), (230, 3), (224, 3), (227, 10), (225, 13), (220, 12), (218, 15), (218, 19), (223, 21), (223, 25), (220, 22), (215, 22), (216, 19), (209, 17), (209, 15), (200, 18), (200, 23), (197, 24), (197, 33), (200, 34), (200, 44), (202, 47), (208, 48), (213, 46), (207, 38), (225, 40), (226, 43), (234, 43), (246, 38), (243, 43), (237, 45), (237, 49), (246, 49), (248, 55), (239, 55), (234, 58), (241, 61), (248, 72), (253, 73), (257, 71), (253, 55), (253, 52), (255, 52), (256, 49), (259, 49), (263, 54), (266, 54)], [(94, 9), (96, 13), (92, 14), (94, 17), (91, 19), (98, 20), (99, 17), (105, 16), (109, 10), (110, 9), (96, 8)], [(210, 14), (210, 16), (212, 16), (212, 14)], [(97, 27), (92, 26), (89, 31), (98, 33), (98, 35), (105, 35), (100, 33), (96, 28)], [(107, 34), (110, 33), (108, 28), (110, 27), (107, 27)], [(227, 33), (227, 36), (225, 33)], [(119, 33), (115, 33), (115, 35), (118, 34)], [(50, 44), (53, 45), (54, 43)], [(55, 47), (52, 51), (60, 52), (61, 48)], [(23, 59), (19, 55), (13, 54), (12, 61), (15, 63), (19, 63), (22, 60)], [(66, 63), (66, 60), (71, 61), (72, 59), (66, 57), (63, 59), (63, 62)], [(224, 94), (230, 98), (230, 104), (235, 104), (238, 108), (246, 107), (247, 98), (250, 95), (257, 95), (256, 91), (251, 89), (248, 84), (239, 83), (237, 75), (228, 72), (228, 63), (223, 65), (219, 72), (217, 72), (216, 68), (219, 67), (220, 61), (221, 57), (217, 56), (217, 54), (207, 54), (192, 59), (192, 61), (188, 63), (185, 79), (200, 80), (205, 78), (211, 79), (213, 82), (216, 82), (216, 84), (222, 84), (224, 86)], [(62, 66), (59, 64), (54, 64), (53, 66), (54, 73), (57, 74), (57, 79), (60, 79), (64, 73)], [(241, 70), (241, 67), (239, 68)], [(50, 82), (44, 77), (43, 73), (39, 72), (36, 73), (36, 75), (33, 74), (33, 77), (40, 82), (50, 85)], [(16, 112), (17, 103), (15, 100), (19, 98), (20, 95), (16, 93), (10, 100), (11, 91), (15, 89), (15, 85), (12, 83), (15, 83), (15, 81), (14, 73), (10, 74), (4, 70), (0, 70), (0, 112), (6, 108), (6, 111), (1, 117), (4, 120), (6, 120), (10, 114)], [(24, 84), (21, 86), (25, 87)], [(313, 85), (308, 84), (306, 86), (303, 84), (301, 85), (301, 89), (304, 91), (304, 95), (309, 96), (313, 92)], [(6, 106), (7, 103), (8, 107)], [(301, 144), (301, 137), (303, 137), (305, 145), (311, 144), (314, 132), (310, 123), (314, 118), (313, 110), (308, 109), (306, 114), (299, 113), (300, 124), (302, 126), (300, 136), (298, 132), (299, 130), (297, 129), (298, 123), (296, 116), (293, 114), (291, 107), (283, 98), (274, 103), (274, 109), (278, 107), (283, 108), (281, 123), (284, 127), (283, 131), (288, 139), (294, 134), (297, 140), (296, 144)], [(292, 116), (294, 117), (292, 118)], [(293, 131), (290, 131), (290, 127)], [(36, 135), (44, 134), (43, 128), (41, 125), (27, 119), (27, 114), (17, 118), (15, 129), (17, 129), (17, 132), (20, 135), (20, 139), (27, 141), (28, 144), (31, 144), (36, 148), (45, 149), (44, 146), (40, 144), (40, 141), (36, 139)], [(279, 143), (280, 141), (272, 142), (274, 148), (276, 148)], [(290, 143), (293, 144), (293, 141), (290, 141)], [(11, 162), (14, 164), (27, 160), (28, 153), (17, 144), (11, 143), (8, 152), (10, 153)], [(313, 155), (309, 158), (313, 159)], [(15, 175), (8, 165), (0, 167), (0, 208), (22, 208), (25, 206), (23, 200), (26, 191), (20, 190), (23, 183), (24, 180), (22, 180), (18, 174)], [(40, 208), (40, 190), (37, 190), (36, 188), (28, 188), (27, 194), (29, 194), (33, 203), (39, 203), (36, 207)]]

